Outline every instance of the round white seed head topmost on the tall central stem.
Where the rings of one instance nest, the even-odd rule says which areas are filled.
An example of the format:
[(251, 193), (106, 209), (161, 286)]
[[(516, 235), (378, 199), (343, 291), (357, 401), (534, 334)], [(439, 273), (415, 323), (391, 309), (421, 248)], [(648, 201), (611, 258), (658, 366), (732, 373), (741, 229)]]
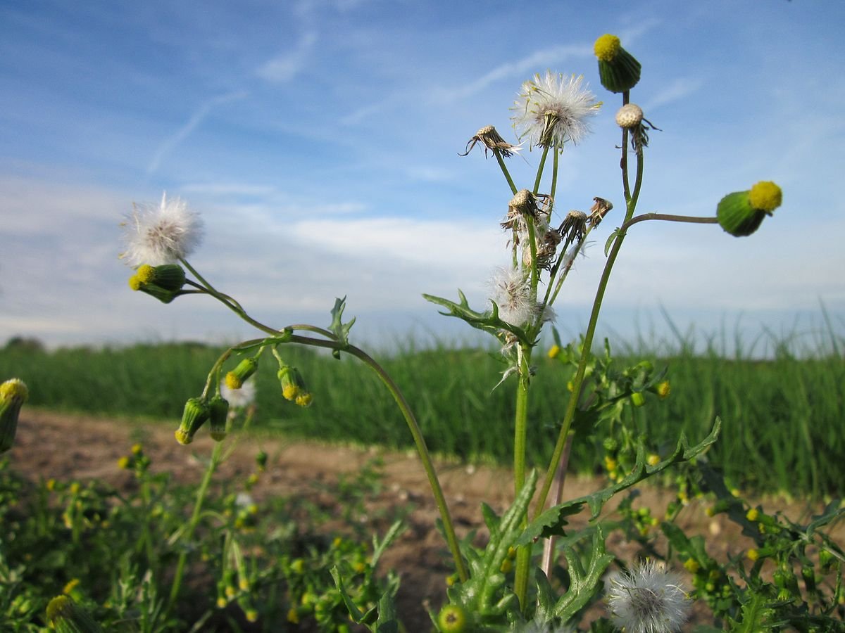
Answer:
[(590, 131), (588, 120), (602, 105), (588, 89), (581, 88), (583, 76), (566, 76), (547, 71), (522, 84), (512, 110), (517, 137), (528, 138), (531, 146), (564, 148), (577, 144)]

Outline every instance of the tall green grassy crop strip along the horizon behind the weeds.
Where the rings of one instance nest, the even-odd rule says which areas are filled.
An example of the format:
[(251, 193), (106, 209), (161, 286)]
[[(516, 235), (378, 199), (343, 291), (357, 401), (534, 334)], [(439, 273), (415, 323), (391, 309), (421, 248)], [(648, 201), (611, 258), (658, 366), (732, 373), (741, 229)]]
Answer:
[[(836, 347), (836, 346), (834, 346)], [(174, 429), (187, 398), (199, 395), (221, 349), (201, 344), (138, 344), (47, 352), (9, 344), (0, 350), (0, 378), (19, 377), (30, 405), (90, 414), (170, 419)], [(257, 427), (325, 441), (412, 446), (406, 425), (381, 383), (356, 360), (293, 346), (281, 348), (313, 392), (311, 408), (281, 398), (275, 360), (267, 354), (255, 380)], [(723, 431), (708, 457), (734, 483), (760, 492), (841, 495), (845, 482), (845, 362), (837, 349), (796, 359), (726, 359), (685, 351), (657, 358), (627, 350), (620, 365), (648, 359), (668, 367), (672, 392), (637, 411), (652, 438), (674, 444), (684, 430), (706, 436), (716, 416)], [(496, 354), (479, 349), (407, 349), (382, 362), (405, 393), (433, 452), (509, 464), (513, 382), (499, 381)], [(569, 370), (537, 354), (529, 419), (529, 463), (543, 468), (569, 396)], [(512, 380), (512, 379), (511, 379)], [(601, 433), (576, 442), (572, 468), (600, 468)]]

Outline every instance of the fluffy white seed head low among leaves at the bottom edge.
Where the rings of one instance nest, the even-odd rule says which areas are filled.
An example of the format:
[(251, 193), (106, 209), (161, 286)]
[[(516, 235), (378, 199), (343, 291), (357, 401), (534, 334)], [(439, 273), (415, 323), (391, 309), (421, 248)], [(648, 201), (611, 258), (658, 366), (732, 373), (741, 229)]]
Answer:
[(690, 598), (680, 576), (655, 560), (609, 576), (605, 591), (613, 624), (625, 633), (680, 630), (690, 614)]

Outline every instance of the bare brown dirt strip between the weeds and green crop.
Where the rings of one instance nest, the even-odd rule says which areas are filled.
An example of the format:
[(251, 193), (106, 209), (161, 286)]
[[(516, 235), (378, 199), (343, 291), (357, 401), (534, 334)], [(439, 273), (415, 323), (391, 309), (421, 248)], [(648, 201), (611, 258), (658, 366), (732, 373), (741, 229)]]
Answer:
[[(204, 471), (204, 466), (194, 456), (210, 454), (212, 446), (210, 438), (201, 435), (194, 444), (185, 447), (173, 439), (170, 425), (25, 408), (9, 455), (13, 468), (30, 479), (101, 479), (125, 489), (132, 484), (131, 475), (117, 468), (117, 459), (128, 454), (128, 448), (134, 442), (142, 441), (144, 453), (152, 459), (153, 469), (166, 469), (177, 482), (189, 484), (198, 482)], [(384, 509), (410, 503), (414, 508), (406, 518), (408, 528), (389, 549), (381, 565), (383, 569), (395, 569), (401, 575), (399, 613), (408, 630), (427, 630), (429, 620), (423, 604), (433, 608), (439, 606), (444, 599), (444, 578), (451, 569), (444, 542), (433, 527), (439, 514), (417, 457), (412, 453), (290, 442), (276, 437), (248, 438), (238, 443), (217, 477), (247, 476), (254, 470), (254, 457), (259, 448), (270, 456), (267, 472), (253, 490), (259, 499), (269, 495), (313, 495), (314, 487), (310, 484), (333, 484), (338, 477), (357, 473), (374, 457), (380, 458), (384, 463), (385, 485), (378, 500), (374, 501), (373, 516), (379, 514), (379, 505)], [(501, 512), (512, 498), (512, 479), (504, 468), (472, 467), (445, 461), (439, 461), (437, 468), (459, 538), (472, 528), (481, 527), (479, 532), (483, 533), (482, 501)], [(586, 495), (600, 487), (601, 482), (597, 479), (570, 476), (565, 496)], [(656, 514), (672, 499), (664, 490), (645, 487), (641, 492), (638, 506), (649, 506)], [(766, 504), (766, 507), (774, 506)], [(820, 506), (808, 508), (796, 503), (784, 505), (783, 502), (777, 502), (777, 507), (792, 518), (820, 510)], [(704, 504), (691, 504), (682, 512), (679, 525), (687, 533), (703, 535), (712, 556), (723, 560), (728, 554), (750, 547), (750, 541), (739, 535), (732, 523), (723, 516), (707, 517), (705, 508)], [(575, 528), (586, 524), (586, 513), (574, 517), (570, 524)], [(838, 532), (842, 537), (845, 528), (840, 526)], [(635, 547), (622, 543), (620, 538), (608, 541), (608, 549), (626, 560), (636, 555)]]

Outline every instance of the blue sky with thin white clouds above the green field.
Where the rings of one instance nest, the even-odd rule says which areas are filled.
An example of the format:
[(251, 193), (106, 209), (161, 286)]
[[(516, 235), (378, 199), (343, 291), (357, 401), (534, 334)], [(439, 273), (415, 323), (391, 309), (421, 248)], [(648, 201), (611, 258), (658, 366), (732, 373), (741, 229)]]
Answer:
[[(584, 74), (602, 112), (565, 150), (557, 208), (622, 206), (619, 96), (592, 42), (641, 61), (631, 99), (651, 135), (641, 211), (710, 215), (777, 181), (757, 234), (642, 223), (608, 288), (606, 329), (668, 336), (724, 324), (815, 337), (820, 302), (845, 322), (845, 3), (0, 3), (0, 339), (48, 344), (232, 340), (211, 300), (163, 306), (117, 261), (132, 203), (181, 196), (207, 235), (192, 263), (277, 326), (328, 322), (335, 296), (370, 343), (461, 338), (421, 294), (477, 307), (506, 261), (510, 191), (493, 160), (457, 155), (477, 128), (514, 139), (510, 106), (547, 69)], [(510, 161), (530, 187), (537, 152)], [(603, 265), (596, 232), (558, 304), (586, 324)], [(595, 233), (594, 233), (595, 235)], [(353, 330), (353, 333), (355, 330)]]

